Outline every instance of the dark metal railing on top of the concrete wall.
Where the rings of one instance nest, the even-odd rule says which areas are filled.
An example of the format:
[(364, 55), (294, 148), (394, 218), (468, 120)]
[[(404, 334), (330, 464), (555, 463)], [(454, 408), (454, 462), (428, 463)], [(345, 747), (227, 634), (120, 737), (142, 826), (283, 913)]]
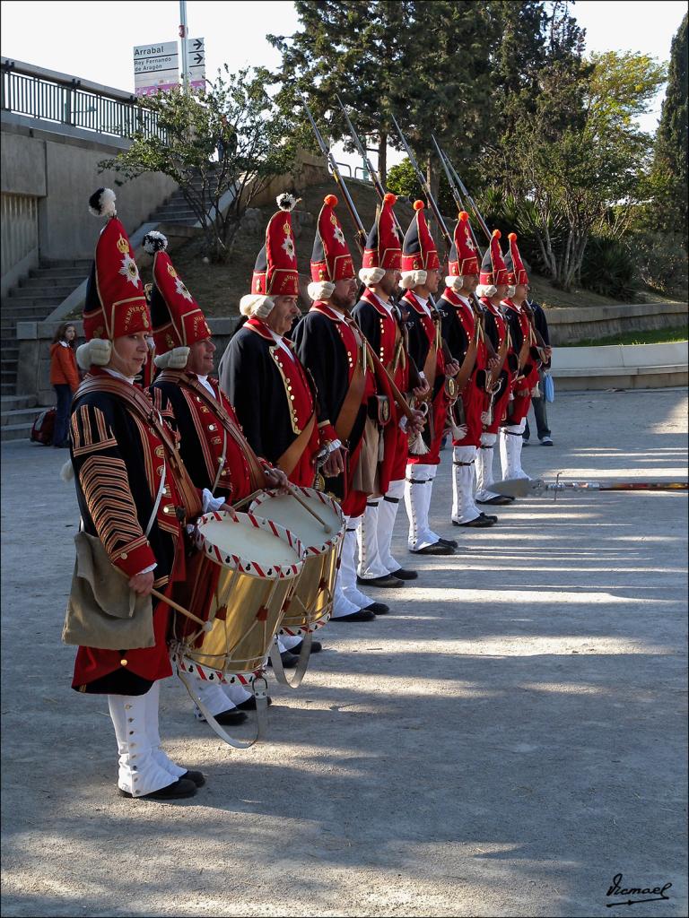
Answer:
[(6, 58), (0, 103), (4, 111), (98, 134), (130, 137), (141, 131), (165, 139), (157, 115), (142, 108), (135, 95)]

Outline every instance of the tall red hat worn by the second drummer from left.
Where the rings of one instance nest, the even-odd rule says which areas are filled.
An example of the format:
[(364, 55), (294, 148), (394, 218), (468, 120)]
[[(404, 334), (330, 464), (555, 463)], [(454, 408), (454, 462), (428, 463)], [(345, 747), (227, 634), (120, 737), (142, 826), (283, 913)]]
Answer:
[(147, 233), (143, 248), (153, 256), (151, 314), (155, 363), (182, 369), (191, 345), (210, 338), (210, 329), (165, 251), (167, 240), (163, 233)]

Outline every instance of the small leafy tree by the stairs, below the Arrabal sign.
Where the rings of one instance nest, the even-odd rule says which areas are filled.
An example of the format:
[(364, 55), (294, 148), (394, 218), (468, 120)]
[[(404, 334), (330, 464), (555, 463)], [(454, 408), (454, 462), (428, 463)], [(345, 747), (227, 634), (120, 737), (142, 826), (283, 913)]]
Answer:
[(268, 74), (246, 68), (205, 89), (146, 96), (157, 136), (135, 131), (130, 149), (100, 162), (125, 180), (144, 173), (169, 175), (179, 185), (203, 230), (205, 253), (224, 261), (244, 211), (256, 195), (294, 162), (290, 125), (265, 90)]

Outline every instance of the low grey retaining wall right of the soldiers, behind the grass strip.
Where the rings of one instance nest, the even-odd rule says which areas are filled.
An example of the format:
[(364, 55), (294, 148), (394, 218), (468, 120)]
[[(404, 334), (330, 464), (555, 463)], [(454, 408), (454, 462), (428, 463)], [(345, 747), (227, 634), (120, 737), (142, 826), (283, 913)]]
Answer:
[(620, 331), (676, 328), (687, 320), (686, 303), (620, 303), (546, 309), (550, 342), (555, 346), (606, 338)]

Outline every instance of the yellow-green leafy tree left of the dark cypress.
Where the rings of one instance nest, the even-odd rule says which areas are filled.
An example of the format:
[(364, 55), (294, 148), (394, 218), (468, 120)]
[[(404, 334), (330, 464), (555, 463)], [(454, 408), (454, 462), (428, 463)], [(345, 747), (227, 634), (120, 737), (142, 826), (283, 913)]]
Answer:
[(663, 78), (648, 56), (613, 51), (590, 62), (565, 55), (541, 72), (536, 109), (510, 148), (508, 190), (533, 202), (541, 260), (564, 289), (579, 279), (592, 233), (619, 228), (641, 199), (652, 141), (634, 118)]

